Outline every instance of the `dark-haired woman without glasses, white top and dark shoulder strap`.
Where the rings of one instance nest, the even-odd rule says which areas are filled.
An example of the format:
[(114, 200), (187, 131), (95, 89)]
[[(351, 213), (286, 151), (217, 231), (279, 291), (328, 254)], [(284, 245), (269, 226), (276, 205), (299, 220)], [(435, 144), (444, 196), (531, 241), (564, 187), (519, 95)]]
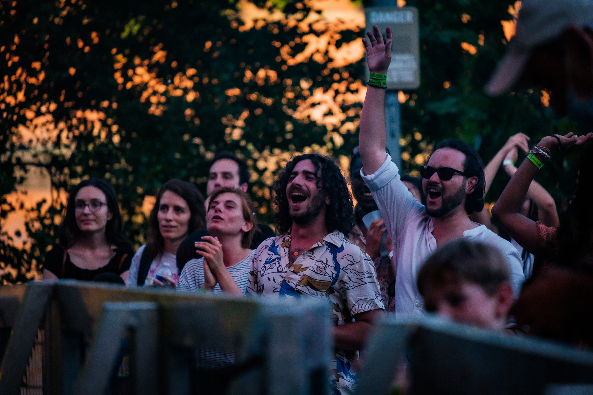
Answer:
[[(171, 179), (162, 185), (156, 198), (147, 242), (132, 258), (128, 286), (175, 287), (182, 269), (177, 267), (177, 248), (187, 235), (205, 226), (204, 198), (195, 185)], [(167, 266), (171, 275), (162, 276), (164, 281), (157, 280), (157, 272)]]

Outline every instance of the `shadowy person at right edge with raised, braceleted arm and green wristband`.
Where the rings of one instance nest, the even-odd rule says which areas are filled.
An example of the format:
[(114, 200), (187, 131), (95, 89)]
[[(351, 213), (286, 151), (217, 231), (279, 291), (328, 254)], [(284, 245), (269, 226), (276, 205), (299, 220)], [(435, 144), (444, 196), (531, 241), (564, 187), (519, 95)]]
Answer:
[(591, 189), (593, 171), (589, 165), (592, 146), (581, 156), (575, 195), (559, 229), (545, 226), (521, 214), (530, 184), (544, 163), (559, 149), (578, 146), (593, 133), (576, 136), (546, 136), (521, 163), (492, 214), (517, 240), (535, 255), (533, 277), (526, 283), (511, 310), (528, 333), (557, 341), (593, 345), (593, 210)]

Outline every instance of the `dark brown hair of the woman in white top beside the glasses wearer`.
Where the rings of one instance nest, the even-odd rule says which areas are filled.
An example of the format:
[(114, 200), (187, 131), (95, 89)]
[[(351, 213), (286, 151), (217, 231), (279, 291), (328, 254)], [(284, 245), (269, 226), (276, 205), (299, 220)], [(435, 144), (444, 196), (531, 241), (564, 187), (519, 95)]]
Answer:
[(148, 237), (146, 237), (146, 250), (153, 258), (162, 253), (165, 248), (165, 239), (158, 227), (158, 210), (161, 205), (162, 194), (171, 191), (186, 201), (190, 211), (188, 223), (188, 234), (194, 230), (203, 229), (206, 226), (206, 208), (204, 198), (196, 186), (180, 179), (170, 179), (162, 185), (157, 192), (157, 199), (148, 217)]

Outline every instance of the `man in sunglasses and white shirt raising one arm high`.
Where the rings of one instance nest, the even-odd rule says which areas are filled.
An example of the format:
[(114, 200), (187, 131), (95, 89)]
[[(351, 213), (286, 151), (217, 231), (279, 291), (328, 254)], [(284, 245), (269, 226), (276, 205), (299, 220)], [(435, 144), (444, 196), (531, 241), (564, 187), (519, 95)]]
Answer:
[(525, 280), (521, 256), (511, 243), (486, 226), (469, 219), (484, 207), (484, 169), (480, 156), (461, 140), (447, 140), (436, 147), (422, 166), (426, 206), (420, 204), (401, 182), (397, 166), (385, 153), (385, 84), (381, 83), (391, 62), (391, 29), (387, 41), (377, 26), (364, 40), (371, 71), (361, 114), (359, 152), (361, 175), (381, 211), (393, 240), (396, 266), (396, 316), (421, 315), (422, 296), (416, 276), (426, 258), (449, 240), (466, 237), (494, 246), (505, 256), (515, 296)]

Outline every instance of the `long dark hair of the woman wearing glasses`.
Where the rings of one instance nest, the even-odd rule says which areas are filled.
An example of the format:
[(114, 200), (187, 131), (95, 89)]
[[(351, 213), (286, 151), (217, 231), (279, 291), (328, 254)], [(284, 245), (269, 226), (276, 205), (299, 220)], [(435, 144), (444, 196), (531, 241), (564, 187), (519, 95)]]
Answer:
[(113, 216), (105, 226), (105, 238), (107, 243), (116, 246), (117, 251), (132, 253), (134, 251), (132, 243), (125, 236), (122, 235), (122, 214), (119, 212), (119, 204), (117, 203), (117, 195), (111, 185), (98, 178), (89, 178), (81, 181), (70, 191), (68, 202), (66, 203), (66, 216), (60, 226), (60, 245), (64, 248), (69, 248), (81, 236), (82, 231), (76, 223), (75, 216), (75, 201), (76, 194), (84, 187), (99, 188), (105, 194), (107, 202), (107, 210)]

